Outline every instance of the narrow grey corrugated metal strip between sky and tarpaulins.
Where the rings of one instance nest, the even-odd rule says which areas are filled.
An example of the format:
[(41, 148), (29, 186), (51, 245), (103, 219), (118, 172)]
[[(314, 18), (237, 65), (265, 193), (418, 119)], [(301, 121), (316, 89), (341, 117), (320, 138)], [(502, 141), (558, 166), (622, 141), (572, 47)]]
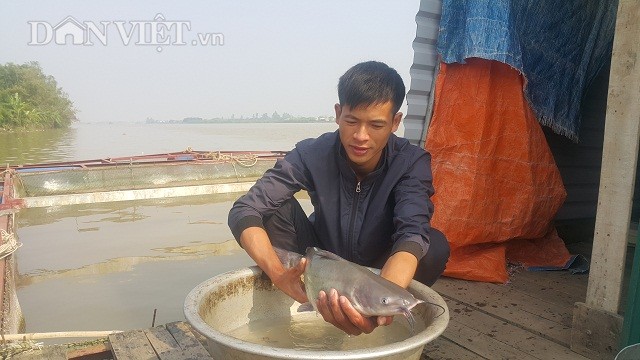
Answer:
[(420, 1), (416, 15), (416, 38), (413, 40), (413, 65), (411, 85), (407, 93), (407, 114), (404, 118), (404, 137), (412, 144), (424, 147), (426, 129), (431, 113), (428, 106), (433, 102), (433, 79), (438, 64), (436, 42), (442, 13), (441, 0)]

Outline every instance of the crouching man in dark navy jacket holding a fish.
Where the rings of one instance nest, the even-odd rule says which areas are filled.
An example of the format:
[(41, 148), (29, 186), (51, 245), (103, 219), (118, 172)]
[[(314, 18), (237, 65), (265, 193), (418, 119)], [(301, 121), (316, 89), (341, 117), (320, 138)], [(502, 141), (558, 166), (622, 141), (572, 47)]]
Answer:
[[(329, 250), (355, 263), (382, 268), (381, 276), (407, 287), (432, 285), (444, 271), (449, 245), (430, 228), (430, 155), (393, 133), (405, 87), (387, 65), (369, 61), (338, 83), (338, 130), (299, 142), (229, 212), (234, 236), (274, 285), (303, 303), (303, 262), (284, 269), (273, 246), (304, 253)], [(306, 190), (310, 218), (293, 195)], [(367, 318), (332, 289), (318, 296), (318, 312), (348, 334), (370, 333), (391, 317)]]

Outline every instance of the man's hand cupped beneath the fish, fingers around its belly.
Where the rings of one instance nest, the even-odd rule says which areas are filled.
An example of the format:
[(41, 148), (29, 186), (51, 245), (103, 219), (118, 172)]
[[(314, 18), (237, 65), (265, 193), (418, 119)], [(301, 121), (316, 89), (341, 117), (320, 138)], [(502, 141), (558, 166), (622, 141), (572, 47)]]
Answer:
[(320, 291), (316, 305), (326, 322), (349, 335), (369, 334), (376, 327), (389, 325), (393, 321), (392, 316), (363, 316), (351, 305), (349, 299), (340, 296), (335, 289), (329, 291), (329, 296)]

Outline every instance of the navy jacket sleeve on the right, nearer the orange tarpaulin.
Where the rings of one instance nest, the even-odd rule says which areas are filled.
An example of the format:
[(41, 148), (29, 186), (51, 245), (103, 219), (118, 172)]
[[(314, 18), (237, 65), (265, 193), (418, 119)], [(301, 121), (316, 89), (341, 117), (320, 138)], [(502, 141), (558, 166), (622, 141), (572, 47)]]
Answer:
[(408, 168), (393, 190), (395, 233), (392, 253), (407, 251), (422, 259), (429, 250), (434, 193), (431, 156), (424, 152)]

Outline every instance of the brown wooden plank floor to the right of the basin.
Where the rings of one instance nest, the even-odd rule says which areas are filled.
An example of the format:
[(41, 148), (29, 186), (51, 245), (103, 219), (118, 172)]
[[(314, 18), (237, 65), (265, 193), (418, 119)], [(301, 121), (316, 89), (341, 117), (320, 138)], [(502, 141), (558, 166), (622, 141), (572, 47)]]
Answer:
[(504, 285), (442, 278), (433, 289), (451, 320), (423, 359), (586, 359), (569, 347), (573, 305), (585, 300), (587, 282), (586, 274), (524, 269)]

